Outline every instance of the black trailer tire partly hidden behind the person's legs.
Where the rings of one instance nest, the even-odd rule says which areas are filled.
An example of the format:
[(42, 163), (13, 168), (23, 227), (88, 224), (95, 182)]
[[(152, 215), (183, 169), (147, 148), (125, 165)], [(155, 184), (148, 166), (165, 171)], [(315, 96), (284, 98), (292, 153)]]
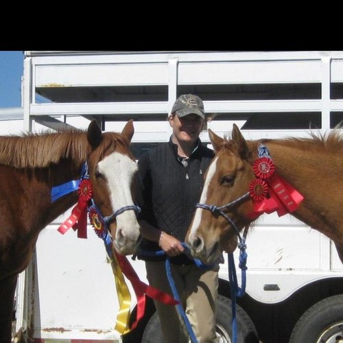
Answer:
[[(252, 320), (248, 314), (239, 307), (236, 306), (236, 318), (237, 318), (237, 342), (238, 343), (257, 343), (257, 331)], [(215, 331), (217, 332), (217, 338), (220, 343), (231, 342), (232, 339), (232, 312), (231, 312), (231, 300), (224, 296), (218, 296), (217, 299), (217, 315)], [(161, 330), (161, 323), (156, 314), (152, 315), (145, 331), (143, 333), (142, 343), (160, 343), (163, 342), (163, 335)]]

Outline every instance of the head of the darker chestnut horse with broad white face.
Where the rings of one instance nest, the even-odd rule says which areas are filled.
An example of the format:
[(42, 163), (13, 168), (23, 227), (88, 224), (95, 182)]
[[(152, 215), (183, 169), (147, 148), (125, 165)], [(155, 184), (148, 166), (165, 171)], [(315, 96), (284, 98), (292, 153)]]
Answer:
[(138, 167), (130, 152), (134, 134), (132, 120), (126, 123), (121, 134), (104, 132), (92, 121), (87, 139), (88, 173), (93, 187), (95, 205), (108, 219), (107, 226), (113, 237), (113, 249), (121, 255), (131, 255), (141, 241), (134, 205), (138, 184)]

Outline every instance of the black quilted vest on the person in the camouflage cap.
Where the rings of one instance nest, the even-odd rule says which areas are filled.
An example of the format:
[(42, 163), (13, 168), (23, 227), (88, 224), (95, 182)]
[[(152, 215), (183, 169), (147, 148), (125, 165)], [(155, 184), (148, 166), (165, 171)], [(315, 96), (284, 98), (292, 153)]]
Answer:
[[(161, 143), (139, 159), (143, 182), (143, 201), (140, 219), (156, 228), (185, 241), (195, 206), (200, 200), (204, 185), (204, 172), (214, 156), (213, 150), (204, 147), (200, 140), (198, 149), (191, 154), (187, 167), (178, 161), (177, 145)], [(161, 250), (158, 244), (143, 239), (143, 250)], [(139, 256), (141, 259), (144, 256)], [(171, 259), (174, 263), (187, 263), (185, 255)], [(155, 259), (155, 258), (153, 258)], [(161, 259), (161, 258), (159, 258)]]

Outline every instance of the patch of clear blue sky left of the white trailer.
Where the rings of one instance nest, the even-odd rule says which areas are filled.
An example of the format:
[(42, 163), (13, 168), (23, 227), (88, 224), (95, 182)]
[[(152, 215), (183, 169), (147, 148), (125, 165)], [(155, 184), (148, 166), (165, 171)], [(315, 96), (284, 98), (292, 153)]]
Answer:
[(21, 106), (23, 51), (0, 51), (0, 108)]

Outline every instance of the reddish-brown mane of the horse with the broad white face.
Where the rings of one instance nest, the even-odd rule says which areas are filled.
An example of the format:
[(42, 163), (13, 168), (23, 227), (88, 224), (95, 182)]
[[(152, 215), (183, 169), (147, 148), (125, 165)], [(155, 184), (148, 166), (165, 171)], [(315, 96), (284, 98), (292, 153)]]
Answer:
[(85, 130), (22, 133), (0, 137), (0, 164), (16, 168), (49, 167), (62, 158), (86, 160)]

